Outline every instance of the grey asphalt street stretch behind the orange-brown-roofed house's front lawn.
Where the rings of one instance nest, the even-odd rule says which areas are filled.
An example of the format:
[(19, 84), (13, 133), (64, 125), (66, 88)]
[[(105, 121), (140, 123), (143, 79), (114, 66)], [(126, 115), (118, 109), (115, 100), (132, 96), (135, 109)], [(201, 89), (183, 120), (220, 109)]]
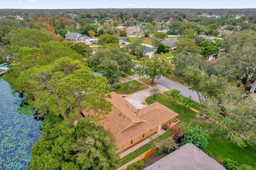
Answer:
[(188, 87), (180, 85), (179, 83), (175, 83), (165, 77), (161, 77), (160, 79), (156, 80), (158, 84), (168, 88), (168, 89), (176, 89), (180, 91), (180, 94), (189, 97), (192, 96), (192, 99), (196, 102), (199, 102), (198, 95), (195, 91), (189, 90)]

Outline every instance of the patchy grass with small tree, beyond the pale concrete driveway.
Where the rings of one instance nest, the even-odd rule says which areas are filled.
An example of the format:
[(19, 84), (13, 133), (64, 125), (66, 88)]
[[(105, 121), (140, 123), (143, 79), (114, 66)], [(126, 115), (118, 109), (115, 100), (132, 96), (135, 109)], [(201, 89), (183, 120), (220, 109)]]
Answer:
[[(130, 83), (133, 83), (135, 88), (134, 88), (134, 91), (128, 91), (128, 85)], [(144, 89), (147, 89), (148, 87), (145, 86), (144, 84), (136, 81), (136, 80), (132, 80), (132, 81), (129, 81), (129, 82), (126, 82), (126, 83), (122, 83), (120, 84), (121, 87), (119, 89), (116, 89), (114, 90), (114, 92), (116, 92), (118, 95), (130, 95), (134, 92), (137, 92), (137, 91), (141, 91), (141, 90), (144, 90)]]

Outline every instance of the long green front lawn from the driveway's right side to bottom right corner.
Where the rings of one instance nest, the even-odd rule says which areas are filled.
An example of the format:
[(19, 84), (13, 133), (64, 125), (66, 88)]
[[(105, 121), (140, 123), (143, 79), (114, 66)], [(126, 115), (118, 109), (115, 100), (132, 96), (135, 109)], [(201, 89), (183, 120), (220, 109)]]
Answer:
[[(146, 99), (146, 103), (149, 105), (151, 103), (154, 103), (158, 101), (162, 105), (165, 105), (166, 107), (172, 109), (176, 113), (179, 114), (179, 119), (181, 120), (181, 123), (184, 125), (193, 125), (196, 126), (198, 124), (201, 125), (201, 127), (204, 130), (207, 130), (207, 127), (205, 125), (202, 125), (202, 121), (196, 118), (196, 113), (194, 111), (191, 111), (190, 109), (187, 109), (186, 114), (183, 114), (182, 112), (184, 111), (184, 106), (178, 105), (174, 101), (174, 107), (171, 107), (171, 101), (164, 95), (159, 94), (156, 97), (156, 100), (153, 101), (153, 97), (150, 96)], [(198, 107), (198, 105), (197, 105)], [(210, 133), (209, 134), (210, 138), (208, 140), (209, 144), (207, 149), (212, 152), (214, 157), (217, 159), (222, 156), (222, 158), (231, 158), (233, 160), (236, 160), (238, 164), (248, 164), (254, 168), (256, 168), (256, 152), (248, 150), (248, 149), (243, 149), (239, 146), (236, 146), (232, 142), (225, 142), (222, 139), (219, 138), (220, 135)]]

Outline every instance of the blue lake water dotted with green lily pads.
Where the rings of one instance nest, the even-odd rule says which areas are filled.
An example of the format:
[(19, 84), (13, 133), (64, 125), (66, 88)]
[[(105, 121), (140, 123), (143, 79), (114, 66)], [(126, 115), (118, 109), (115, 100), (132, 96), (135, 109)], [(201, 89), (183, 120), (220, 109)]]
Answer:
[(21, 103), (19, 93), (0, 78), (0, 170), (28, 169), (30, 148), (42, 136), (42, 121), (18, 113)]

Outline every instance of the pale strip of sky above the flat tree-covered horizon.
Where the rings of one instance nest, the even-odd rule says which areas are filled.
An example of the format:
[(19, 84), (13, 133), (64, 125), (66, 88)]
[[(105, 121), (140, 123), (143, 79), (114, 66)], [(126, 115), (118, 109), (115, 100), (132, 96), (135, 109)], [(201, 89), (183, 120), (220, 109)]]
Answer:
[(256, 8), (256, 0), (0, 0), (1, 9)]

